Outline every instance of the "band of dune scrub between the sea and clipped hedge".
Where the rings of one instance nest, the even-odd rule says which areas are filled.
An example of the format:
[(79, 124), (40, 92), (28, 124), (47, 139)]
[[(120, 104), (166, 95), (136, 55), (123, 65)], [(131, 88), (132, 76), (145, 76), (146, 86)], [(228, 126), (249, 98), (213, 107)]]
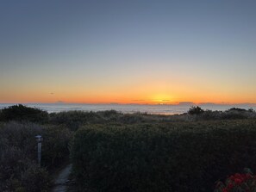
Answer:
[(250, 109), (230, 108), (226, 111), (203, 110), (192, 106), (188, 113), (181, 115), (149, 115), (147, 113), (122, 114), (115, 110), (87, 112), (65, 111), (48, 114), (39, 108), (28, 108), (22, 104), (0, 110), (0, 121), (32, 121), (40, 124), (51, 124), (78, 130), (85, 124), (138, 124), (180, 121), (211, 121), (256, 119), (256, 112)]

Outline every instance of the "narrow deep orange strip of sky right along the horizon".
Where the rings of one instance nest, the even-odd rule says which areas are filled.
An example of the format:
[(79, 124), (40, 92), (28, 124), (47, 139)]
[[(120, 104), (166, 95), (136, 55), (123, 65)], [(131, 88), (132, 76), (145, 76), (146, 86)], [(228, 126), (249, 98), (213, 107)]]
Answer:
[[(91, 104), (109, 104), (109, 103), (118, 103), (118, 104), (178, 104), (179, 102), (193, 102), (195, 104), (200, 104), (203, 102), (213, 102), (215, 104), (237, 104), (237, 103), (256, 103), (255, 100), (243, 101), (240, 99), (229, 99), (229, 100), (212, 100), (211, 97), (204, 98), (204, 99), (197, 99), (196, 96), (191, 96), (190, 99), (185, 96), (180, 96), (179, 100), (172, 99), (172, 96), (156, 94), (153, 96), (145, 96), (147, 99), (140, 99), (143, 97), (119, 97), (113, 99), (111, 96), (65, 96), (63, 99), (58, 99), (57, 97), (49, 98), (49, 97), (36, 97), (36, 96), (29, 96), (29, 97), (14, 97), (12, 100), (3, 100), (2, 103), (54, 103), (54, 102), (64, 102), (64, 103), (91, 103)], [(145, 98), (144, 97), (144, 98)], [(224, 99), (225, 97), (223, 97)], [(1, 103), (0, 102), (0, 103)]]

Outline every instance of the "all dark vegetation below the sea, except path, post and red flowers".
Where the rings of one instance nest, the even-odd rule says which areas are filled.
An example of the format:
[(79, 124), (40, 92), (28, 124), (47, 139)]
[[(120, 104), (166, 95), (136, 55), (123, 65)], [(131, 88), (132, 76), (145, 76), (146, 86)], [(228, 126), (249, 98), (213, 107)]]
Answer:
[(49, 191), (68, 158), (77, 191), (214, 191), (216, 181), (256, 170), (255, 137), (253, 109), (48, 114), (11, 106), (0, 110), (0, 191)]

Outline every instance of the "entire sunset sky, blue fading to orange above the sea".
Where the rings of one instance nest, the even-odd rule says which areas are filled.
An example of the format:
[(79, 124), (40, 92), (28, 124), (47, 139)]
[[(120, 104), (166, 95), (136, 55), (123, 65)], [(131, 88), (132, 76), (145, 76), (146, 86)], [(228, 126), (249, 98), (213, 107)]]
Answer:
[(2, 0), (0, 102), (256, 103), (254, 0)]

